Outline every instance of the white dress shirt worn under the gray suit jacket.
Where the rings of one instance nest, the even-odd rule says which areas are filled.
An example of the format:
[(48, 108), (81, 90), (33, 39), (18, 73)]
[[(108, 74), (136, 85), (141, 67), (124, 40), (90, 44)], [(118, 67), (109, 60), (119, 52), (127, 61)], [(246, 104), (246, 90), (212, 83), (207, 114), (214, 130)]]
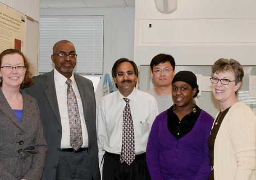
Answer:
[[(76, 94), (76, 98), (78, 101), (78, 109), (81, 120), (82, 127), (82, 148), (88, 147), (88, 132), (85, 124), (83, 108), (82, 108), (82, 99), (78, 91), (78, 86), (76, 84), (74, 73), (70, 77), (72, 80), (72, 88)], [(68, 105), (67, 105), (67, 88), (66, 84), (67, 78), (60, 74), (56, 69), (54, 69), (54, 82), (55, 89), (57, 94), (57, 100), (59, 105), (59, 115), (61, 119), (61, 127), (62, 127), (62, 136), (61, 136), (61, 145), (60, 148), (72, 148), (69, 143), (70, 139), (70, 129), (69, 129), (69, 114), (68, 114)]]

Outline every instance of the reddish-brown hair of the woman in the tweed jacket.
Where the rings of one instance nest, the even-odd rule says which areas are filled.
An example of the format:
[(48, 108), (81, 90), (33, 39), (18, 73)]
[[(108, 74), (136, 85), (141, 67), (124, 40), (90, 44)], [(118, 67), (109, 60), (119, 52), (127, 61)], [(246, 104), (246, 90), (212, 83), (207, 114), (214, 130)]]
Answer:
[[(1, 54), (0, 54), (0, 65), (2, 64), (2, 59), (5, 55), (8, 55), (8, 54), (19, 54), (22, 56), (23, 58), (23, 61), (24, 61), (24, 66), (27, 68), (26, 72), (25, 72), (25, 76), (24, 76), (24, 80), (23, 82), (21, 83), (20, 85), (20, 89), (24, 89), (24, 88), (27, 88), (27, 87), (30, 87), (31, 85), (34, 84), (31, 76), (32, 76), (32, 70), (31, 70), (31, 67), (30, 67), (30, 64), (26, 58), (26, 56), (20, 52), (19, 50), (17, 49), (6, 49), (4, 50)], [(0, 87), (2, 87), (2, 84), (3, 82), (1, 81), (0, 82)]]

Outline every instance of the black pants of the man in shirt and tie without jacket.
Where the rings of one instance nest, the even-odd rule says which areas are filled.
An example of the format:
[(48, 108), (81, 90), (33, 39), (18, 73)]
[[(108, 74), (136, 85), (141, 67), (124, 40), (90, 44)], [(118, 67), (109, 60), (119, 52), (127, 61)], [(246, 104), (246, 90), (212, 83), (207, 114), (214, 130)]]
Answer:
[(146, 153), (136, 155), (130, 165), (126, 162), (121, 164), (119, 160), (119, 154), (105, 153), (103, 180), (150, 180), (146, 166)]

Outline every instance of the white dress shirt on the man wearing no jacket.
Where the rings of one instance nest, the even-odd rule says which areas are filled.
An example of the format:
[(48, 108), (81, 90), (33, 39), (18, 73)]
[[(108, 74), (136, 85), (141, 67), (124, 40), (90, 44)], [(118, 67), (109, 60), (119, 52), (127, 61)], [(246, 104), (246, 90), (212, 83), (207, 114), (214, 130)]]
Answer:
[[(99, 146), (99, 162), (105, 153), (121, 153), (123, 135), (123, 109), (126, 102), (118, 91), (104, 96), (99, 104), (99, 113), (96, 121)], [(131, 114), (135, 137), (135, 152), (146, 152), (146, 144), (152, 122), (158, 115), (157, 101), (148, 93), (133, 89), (126, 97), (130, 99)]]

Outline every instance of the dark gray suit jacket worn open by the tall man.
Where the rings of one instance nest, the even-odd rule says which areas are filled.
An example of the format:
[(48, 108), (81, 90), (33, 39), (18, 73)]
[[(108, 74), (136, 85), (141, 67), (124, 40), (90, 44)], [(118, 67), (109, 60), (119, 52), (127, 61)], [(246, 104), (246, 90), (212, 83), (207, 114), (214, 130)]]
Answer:
[[(85, 77), (74, 74), (82, 99), (85, 123), (89, 136), (88, 153), (91, 161), (91, 173), (94, 180), (100, 179), (98, 162), (98, 145), (96, 137), (96, 102), (92, 82)], [(54, 83), (54, 70), (33, 77), (34, 85), (25, 91), (37, 99), (48, 145), (46, 163), (42, 180), (55, 180), (56, 166), (59, 160), (61, 144), (61, 120)]]

